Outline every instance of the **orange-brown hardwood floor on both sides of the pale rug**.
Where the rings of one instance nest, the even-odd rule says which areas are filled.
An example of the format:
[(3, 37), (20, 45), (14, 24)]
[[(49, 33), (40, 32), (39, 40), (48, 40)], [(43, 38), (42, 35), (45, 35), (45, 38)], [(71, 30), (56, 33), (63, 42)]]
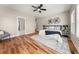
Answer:
[[(59, 54), (59, 52), (31, 39), (31, 35), (17, 36), (0, 41), (0, 54)], [(71, 53), (77, 52), (73, 42), (68, 38)]]

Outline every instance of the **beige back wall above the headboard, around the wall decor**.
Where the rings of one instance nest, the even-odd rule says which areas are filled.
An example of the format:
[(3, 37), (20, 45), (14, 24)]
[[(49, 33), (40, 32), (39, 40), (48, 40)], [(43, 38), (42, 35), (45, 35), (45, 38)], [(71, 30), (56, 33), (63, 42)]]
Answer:
[[(42, 25), (47, 25), (48, 24), (48, 20), (53, 18), (53, 17), (59, 17), (61, 19), (61, 22), (58, 23), (57, 25), (70, 25), (70, 15), (69, 12), (63, 12), (57, 15), (51, 15), (48, 17), (44, 17), (44, 18), (39, 18), (38, 19), (38, 30), (41, 30), (43, 28)], [(55, 24), (53, 24), (55, 25)]]

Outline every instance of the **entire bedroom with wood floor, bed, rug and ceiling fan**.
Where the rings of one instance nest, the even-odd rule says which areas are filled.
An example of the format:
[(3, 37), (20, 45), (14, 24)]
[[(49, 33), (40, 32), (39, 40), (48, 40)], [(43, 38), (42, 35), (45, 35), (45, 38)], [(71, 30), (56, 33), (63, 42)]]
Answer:
[(78, 12), (75, 4), (0, 5), (0, 53), (77, 54)]

